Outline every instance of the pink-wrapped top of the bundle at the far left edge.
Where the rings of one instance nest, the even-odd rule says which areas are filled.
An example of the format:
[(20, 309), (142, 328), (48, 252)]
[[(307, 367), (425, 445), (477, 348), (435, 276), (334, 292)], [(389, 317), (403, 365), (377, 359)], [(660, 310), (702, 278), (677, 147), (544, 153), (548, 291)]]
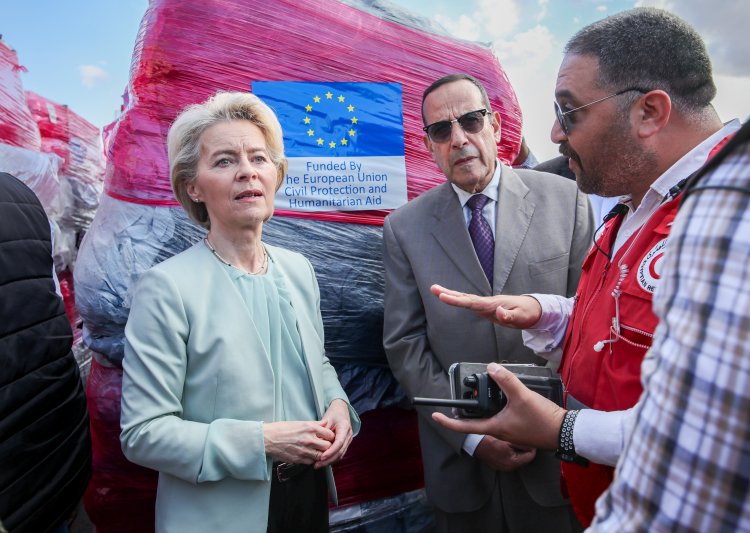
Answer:
[(0, 142), (39, 151), (39, 129), (29, 113), (18, 55), (0, 39)]

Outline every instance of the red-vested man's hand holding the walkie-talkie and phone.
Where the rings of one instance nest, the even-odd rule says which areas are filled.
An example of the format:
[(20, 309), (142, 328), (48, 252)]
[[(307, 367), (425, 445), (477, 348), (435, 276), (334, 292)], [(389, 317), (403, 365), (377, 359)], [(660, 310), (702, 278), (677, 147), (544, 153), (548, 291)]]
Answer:
[(487, 373), (508, 400), (502, 411), (490, 418), (464, 420), (433, 413), (433, 420), (461, 433), (491, 435), (522, 447), (556, 449), (565, 409), (527, 388), (513, 372), (502, 365), (490, 363)]

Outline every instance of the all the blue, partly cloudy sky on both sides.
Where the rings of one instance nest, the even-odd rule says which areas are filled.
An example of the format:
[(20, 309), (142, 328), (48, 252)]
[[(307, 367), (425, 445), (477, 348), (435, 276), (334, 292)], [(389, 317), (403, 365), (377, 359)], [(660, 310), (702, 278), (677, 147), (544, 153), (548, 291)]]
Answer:
[[(454, 36), (491, 43), (518, 95), (524, 131), (540, 160), (549, 142), (552, 94), (565, 41), (578, 29), (634, 5), (675, 12), (706, 39), (722, 119), (750, 114), (750, 1), (721, 0), (401, 0)], [(0, 34), (28, 72), (26, 89), (101, 127), (114, 120), (147, 0), (4, 0)]]

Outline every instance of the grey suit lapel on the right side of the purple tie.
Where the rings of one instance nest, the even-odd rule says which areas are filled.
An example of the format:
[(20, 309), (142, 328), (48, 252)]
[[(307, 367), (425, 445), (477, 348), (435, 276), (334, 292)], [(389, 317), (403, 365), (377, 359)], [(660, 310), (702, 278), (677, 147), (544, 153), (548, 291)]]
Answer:
[[(526, 199), (529, 188), (518, 174), (509, 167), (501, 168), (500, 195), (495, 220), (495, 294), (500, 294), (508, 282), (536, 207)], [(537, 238), (543, 240), (544, 236), (539, 235)]]

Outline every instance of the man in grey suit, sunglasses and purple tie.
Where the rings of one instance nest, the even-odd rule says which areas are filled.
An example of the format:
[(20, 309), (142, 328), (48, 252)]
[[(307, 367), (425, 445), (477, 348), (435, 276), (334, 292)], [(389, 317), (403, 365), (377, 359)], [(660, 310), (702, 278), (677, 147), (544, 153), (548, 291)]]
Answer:
[[(500, 115), (472, 76), (446, 76), (428, 87), (422, 118), (425, 146), (448, 182), (385, 220), (383, 344), (409, 396), (440, 398), (450, 395), (454, 362), (544, 361), (523, 346), (520, 332), (442, 304), (430, 286), (572, 296), (593, 220), (572, 181), (497, 160)], [(576, 528), (551, 454), (453, 433), (432, 421), (434, 408), (417, 411), (439, 531)]]

